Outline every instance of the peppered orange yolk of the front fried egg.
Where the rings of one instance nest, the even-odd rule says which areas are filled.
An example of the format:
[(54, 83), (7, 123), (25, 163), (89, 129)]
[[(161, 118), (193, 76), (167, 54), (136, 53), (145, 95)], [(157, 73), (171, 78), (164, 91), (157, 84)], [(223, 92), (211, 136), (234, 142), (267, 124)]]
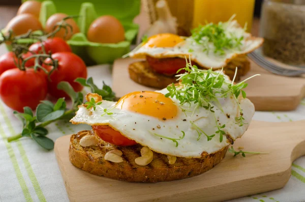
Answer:
[(173, 119), (177, 106), (162, 93), (142, 91), (129, 93), (117, 102), (116, 108), (155, 117), (160, 120)]

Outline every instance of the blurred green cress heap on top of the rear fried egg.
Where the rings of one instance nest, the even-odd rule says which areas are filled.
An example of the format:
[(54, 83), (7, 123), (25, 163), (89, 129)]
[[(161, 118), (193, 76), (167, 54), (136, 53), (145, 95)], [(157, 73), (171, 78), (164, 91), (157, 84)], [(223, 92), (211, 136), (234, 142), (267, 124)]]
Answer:
[(210, 50), (210, 43), (215, 47), (214, 53), (220, 55), (225, 54), (225, 50), (228, 49), (239, 49), (243, 37), (237, 37), (235, 33), (228, 33), (226, 31), (226, 26), (231, 20), (228, 22), (219, 22), (218, 24), (209, 23), (200, 25), (192, 30), (192, 39), (197, 44), (202, 45), (204, 52)]

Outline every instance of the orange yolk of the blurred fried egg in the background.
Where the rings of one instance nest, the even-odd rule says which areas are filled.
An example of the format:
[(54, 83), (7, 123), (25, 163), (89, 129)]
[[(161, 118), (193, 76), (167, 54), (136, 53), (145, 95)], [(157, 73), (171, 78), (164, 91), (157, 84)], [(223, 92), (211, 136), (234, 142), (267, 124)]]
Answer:
[(145, 46), (153, 47), (174, 47), (178, 43), (184, 41), (181, 37), (174, 34), (159, 34), (154, 35), (148, 38), (148, 41), (145, 43)]

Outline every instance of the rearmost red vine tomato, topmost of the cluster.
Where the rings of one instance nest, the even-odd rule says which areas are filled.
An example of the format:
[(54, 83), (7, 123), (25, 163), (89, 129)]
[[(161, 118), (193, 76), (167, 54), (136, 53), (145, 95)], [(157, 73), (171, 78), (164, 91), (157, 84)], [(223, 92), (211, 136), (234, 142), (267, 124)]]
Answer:
[(42, 43), (34, 43), (29, 46), (28, 50), (30, 52), (43, 53), (42, 46), (44, 46), (47, 54), (56, 52), (72, 52), (70, 46), (66, 43), (66, 41), (58, 37), (47, 39)]

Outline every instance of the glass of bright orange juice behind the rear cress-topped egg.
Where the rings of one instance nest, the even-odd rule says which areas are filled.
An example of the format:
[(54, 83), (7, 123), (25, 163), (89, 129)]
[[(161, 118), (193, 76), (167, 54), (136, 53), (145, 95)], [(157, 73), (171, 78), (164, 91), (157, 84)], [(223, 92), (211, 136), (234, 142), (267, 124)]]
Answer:
[(193, 28), (206, 22), (228, 21), (231, 16), (251, 31), (255, 0), (194, 0)]

